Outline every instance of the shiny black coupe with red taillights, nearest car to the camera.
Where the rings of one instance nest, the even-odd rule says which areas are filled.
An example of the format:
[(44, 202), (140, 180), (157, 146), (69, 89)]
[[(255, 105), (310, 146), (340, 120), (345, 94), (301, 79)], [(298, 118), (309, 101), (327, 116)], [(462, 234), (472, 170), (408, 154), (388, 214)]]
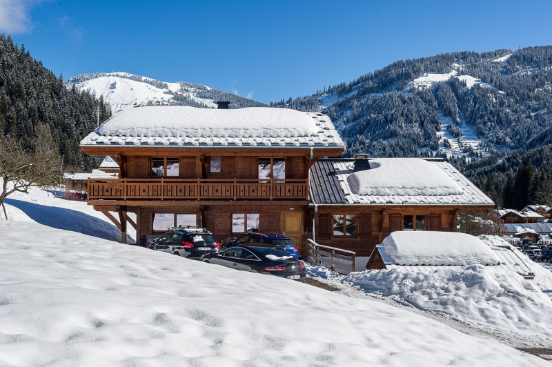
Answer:
[(237, 270), (261, 272), (287, 279), (306, 278), (306, 268), (301, 261), (271, 245), (251, 244), (232, 246), (221, 252), (205, 255), (203, 261)]

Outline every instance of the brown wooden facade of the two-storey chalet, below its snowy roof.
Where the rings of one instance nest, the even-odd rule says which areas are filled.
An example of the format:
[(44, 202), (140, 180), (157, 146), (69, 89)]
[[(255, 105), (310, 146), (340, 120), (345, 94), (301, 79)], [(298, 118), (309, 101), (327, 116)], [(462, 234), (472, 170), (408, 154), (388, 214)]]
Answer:
[[(317, 152), (311, 156), (310, 149), (198, 148), (191, 151), (195, 155), (190, 155), (189, 148), (82, 150), (87, 154), (108, 152), (121, 165), (119, 179), (88, 180), (88, 204), (106, 215), (116, 212), (108, 217), (124, 233), (121, 241), (126, 238), (128, 212), (137, 215), (137, 222), (129, 223), (137, 230), (138, 244), (166, 230), (154, 227), (156, 213), (195, 216), (193, 224), (208, 228), (217, 241), (248, 229), (233, 228), (233, 215), (256, 215), (259, 232), (285, 232), (298, 246), (304, 241), (308, 168), (318, 159)], [(333, 150), (333, 155), (337, 153), (341, 151)], [(219, 172), (212, 172), (213, 157), (219, 158)], [(177, 176), (174, 172), (172, 176), (155, 174), (153, 161), (161, 158), (178, 162)], [(259, 178), (259, 162), (268, 161), (282, 163), (285, 178)]]

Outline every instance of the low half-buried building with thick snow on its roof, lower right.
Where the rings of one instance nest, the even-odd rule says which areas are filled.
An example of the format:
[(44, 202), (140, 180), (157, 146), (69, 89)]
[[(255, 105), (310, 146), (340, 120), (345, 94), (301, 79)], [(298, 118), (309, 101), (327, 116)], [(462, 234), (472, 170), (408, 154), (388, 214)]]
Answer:
[(442, 267), (462, 269), (478, 264), (500, 266), (533, 279), (527, 259), (513, 246), (500, 239), (493, 239), (491, 244), (457, 232), (393, 232), (376, 246), (366, 268), (433, 272)]

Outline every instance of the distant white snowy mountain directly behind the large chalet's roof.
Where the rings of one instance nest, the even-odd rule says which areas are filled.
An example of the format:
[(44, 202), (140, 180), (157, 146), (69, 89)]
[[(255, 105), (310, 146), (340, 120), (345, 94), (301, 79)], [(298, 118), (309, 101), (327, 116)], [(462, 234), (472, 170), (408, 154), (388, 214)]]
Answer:
[(216, 108), (216, 101), (230, 101), (230, 108), (265, 106), (263, 103), (239, 97), (200, 84), (179, 81), (167, 83), (128, 72), (99, 72), (69, 78), (66, 87), (90, 90), (110, 104), (117, 112), (136, 106), (193, 106)]

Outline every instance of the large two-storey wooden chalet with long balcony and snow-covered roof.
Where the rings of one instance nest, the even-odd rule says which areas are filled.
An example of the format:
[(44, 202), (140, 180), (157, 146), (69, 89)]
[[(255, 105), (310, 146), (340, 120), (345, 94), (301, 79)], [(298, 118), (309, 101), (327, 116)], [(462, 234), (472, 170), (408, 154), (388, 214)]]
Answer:
[(219, 241), (258, 230), (285, 232), (300, 246), (308, 171), (319, 157), (341, 155), (344, 143), (322, 113), (148, 106), (118, 112), (81, 150), (120, 168), (119, 179), (88, 180), (88, 204), (119, 227), (123, 243), (127, 223), (139, 244), (190, 224)]

